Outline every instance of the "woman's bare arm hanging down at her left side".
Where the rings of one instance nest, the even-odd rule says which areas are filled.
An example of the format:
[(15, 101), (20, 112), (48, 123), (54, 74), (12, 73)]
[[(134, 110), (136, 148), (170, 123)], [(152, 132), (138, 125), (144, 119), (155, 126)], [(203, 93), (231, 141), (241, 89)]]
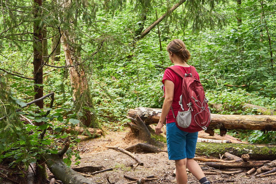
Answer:
[(157, 134), (162, 133), (161, 128), (163, 127), (163, 123), (171, 109), (171, 104), (174, 99), (174, 83), (170, 80), (165, 80), (164, 85), (165, 85), (165, 94), (166, 95), (165, 95), (165, 99), (163, 102), (163, 107), (162, 107), (162, 112), (161, 112), (159, 122), (158, 122), (157, 126), (155, 127), (155, 133), (157, 133)]

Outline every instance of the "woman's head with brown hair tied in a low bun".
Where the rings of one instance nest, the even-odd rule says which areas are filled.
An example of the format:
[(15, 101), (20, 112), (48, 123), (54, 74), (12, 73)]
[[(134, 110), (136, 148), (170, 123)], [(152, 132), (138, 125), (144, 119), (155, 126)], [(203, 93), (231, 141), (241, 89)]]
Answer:
[(182, 40), (172, 40), (167, 46), (167, 51), (170, 55), (175, 54), (185, 62), (190, 59), (190, 52), (186, 49), (186, 46)]

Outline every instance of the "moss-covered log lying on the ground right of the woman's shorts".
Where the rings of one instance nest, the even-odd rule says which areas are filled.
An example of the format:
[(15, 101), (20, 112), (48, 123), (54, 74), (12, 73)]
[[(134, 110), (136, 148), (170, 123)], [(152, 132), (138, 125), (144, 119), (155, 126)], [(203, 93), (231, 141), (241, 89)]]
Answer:
[(228, 143), (197, 143), (196, 155), (208, 155), (219, 157), (219, 154), (230, 152), (233, 155), (241, 156), (249, 154), (251, 159), (275, 160), (276, 146), (266, 144), (228, 144)]

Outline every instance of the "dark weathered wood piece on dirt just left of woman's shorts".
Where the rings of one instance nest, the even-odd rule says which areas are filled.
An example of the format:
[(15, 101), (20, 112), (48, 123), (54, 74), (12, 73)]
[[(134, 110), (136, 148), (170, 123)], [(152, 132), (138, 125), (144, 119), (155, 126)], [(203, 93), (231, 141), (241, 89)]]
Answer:
[(145, 153), (159, 153), (161, 151), (167, 152), (167, 150), (159, 149), (156, 146), (153, 146), (151, 144), (147, 143), (138, 143), (135, 145), (132, 145), (128, 148), (125, 148), (126, 151), (136, 151), (136, 152), (145, 152)]

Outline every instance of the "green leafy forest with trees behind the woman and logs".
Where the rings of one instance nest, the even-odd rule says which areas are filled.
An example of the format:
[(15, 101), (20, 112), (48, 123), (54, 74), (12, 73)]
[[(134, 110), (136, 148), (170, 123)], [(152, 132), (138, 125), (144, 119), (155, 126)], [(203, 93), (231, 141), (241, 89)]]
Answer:
[[(0, 15), (0, 117), (7, 117), (0, 122), (0, 162), (12, 167), (43, 163), (64, 141), (70, 165), (72, 155), (79, 159), (71, 149), (78, 132), (64, 129), (121, 131), (128, 109), (162, 108), (161, 79), (171, 66), (166, 46), (175, 38), (190, 51), (188, 64), (210, 103), (222, 104), (212, 113), (261, 114), (244, 103), (269, 109), (262, 114), (276, 108), (274, 0), (1, 0)], [(51, 96), (15, 113), (50, 92), (53, 104)], [(228, 134), (276, 143), (273, 131)]]

